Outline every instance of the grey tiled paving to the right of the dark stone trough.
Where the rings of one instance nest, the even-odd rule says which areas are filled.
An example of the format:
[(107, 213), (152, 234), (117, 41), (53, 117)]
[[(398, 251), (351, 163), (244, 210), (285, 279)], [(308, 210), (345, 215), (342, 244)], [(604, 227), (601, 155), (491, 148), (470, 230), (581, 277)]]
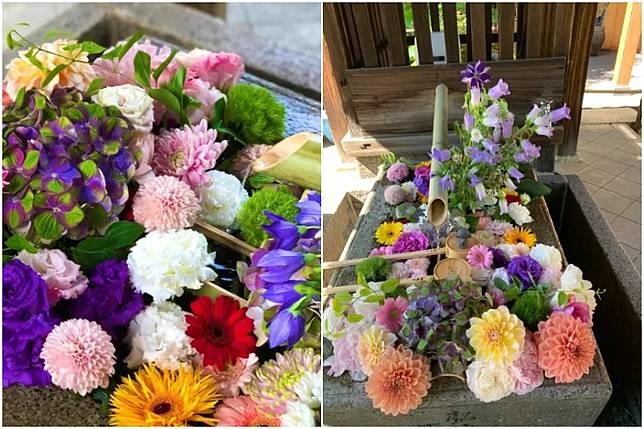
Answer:
[(582, 124), (577, 148), (556, 171), (579, 175), (641, 275), (641, 136), (623, 124)]

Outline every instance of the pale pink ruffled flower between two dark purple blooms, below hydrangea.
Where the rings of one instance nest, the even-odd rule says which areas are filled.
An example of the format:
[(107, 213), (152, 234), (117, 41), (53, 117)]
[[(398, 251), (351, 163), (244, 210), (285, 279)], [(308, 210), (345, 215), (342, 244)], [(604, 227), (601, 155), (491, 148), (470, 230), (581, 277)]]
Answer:
[(61, 250), (41, 249), (38, 253), (22, 250), (17, 258), (34, 269), (47, 283), (47, 298), (53, 306), (59, 299), (74, 299), (87, 289), (87, 277), (80, 266)]

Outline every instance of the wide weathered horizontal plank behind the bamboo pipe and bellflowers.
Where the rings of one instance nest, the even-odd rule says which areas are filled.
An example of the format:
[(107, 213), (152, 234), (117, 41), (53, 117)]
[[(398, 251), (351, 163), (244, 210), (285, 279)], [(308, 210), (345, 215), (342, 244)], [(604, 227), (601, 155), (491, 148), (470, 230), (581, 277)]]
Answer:
[[(498, 61), (490, 66), (493, 76), (510, 82), (508, 103), (519, 121), (533, 103), (562, 102), (565, 64), (565, 58), (545, 58)], [(364, 130), (360, 135), (429, 131), (433, 91), (441, 82), (450, 90), (450, 123), (461, 120), (466, 90), (460, 80), (461, 69), (460, 64), (441, 64), (347, 71), (356, 118)]]

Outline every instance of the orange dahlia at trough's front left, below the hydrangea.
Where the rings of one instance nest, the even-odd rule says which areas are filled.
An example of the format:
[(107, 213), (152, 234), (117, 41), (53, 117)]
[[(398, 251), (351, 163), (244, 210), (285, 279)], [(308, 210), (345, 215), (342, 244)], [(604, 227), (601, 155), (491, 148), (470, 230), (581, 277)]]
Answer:
[(427, 396), (430, 377), (424, 356), (402, 346), (390, 348), (367, 381), (367, 396), (387, 415), (407, 414)]

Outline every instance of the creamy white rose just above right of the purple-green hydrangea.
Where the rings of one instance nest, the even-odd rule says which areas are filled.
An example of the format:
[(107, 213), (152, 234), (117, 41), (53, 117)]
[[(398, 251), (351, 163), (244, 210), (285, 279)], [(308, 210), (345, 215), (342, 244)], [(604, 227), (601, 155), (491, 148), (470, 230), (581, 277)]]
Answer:
[(108, 86), (98, 91), (92, 101), (102, 106), (116, 106), (142, 133), (149, 133), (154, 122), (154, 102), (143, 88), (134, 85)]

